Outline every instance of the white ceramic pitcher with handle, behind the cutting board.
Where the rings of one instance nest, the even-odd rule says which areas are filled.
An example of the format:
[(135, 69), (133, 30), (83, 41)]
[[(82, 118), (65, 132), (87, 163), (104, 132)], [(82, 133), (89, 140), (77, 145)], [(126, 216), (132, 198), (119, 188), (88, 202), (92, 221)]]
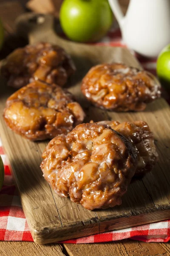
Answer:
[(108, 0), (128, 47), (147, 57), (170, 44), (170, 0), (130, 0), (123, 16), (118, 0)]

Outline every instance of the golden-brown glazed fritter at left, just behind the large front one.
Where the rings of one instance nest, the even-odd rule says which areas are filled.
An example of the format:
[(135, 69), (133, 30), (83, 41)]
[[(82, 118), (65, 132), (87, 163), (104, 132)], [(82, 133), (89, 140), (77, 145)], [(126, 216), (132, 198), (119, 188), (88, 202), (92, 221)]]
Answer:
[(6, 124), (29, 140), (51, 139), (67, 133), (81, 123), (84, 116), (71, 93), (40, 81), (12, 94), (4, 110)]

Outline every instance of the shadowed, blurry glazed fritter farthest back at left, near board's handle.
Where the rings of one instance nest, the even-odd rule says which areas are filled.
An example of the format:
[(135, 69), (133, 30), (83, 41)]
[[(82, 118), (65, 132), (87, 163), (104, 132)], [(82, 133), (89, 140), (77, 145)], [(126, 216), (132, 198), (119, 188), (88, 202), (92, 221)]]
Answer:
[(1, 68), (8, 86), (20, 88), (33, 80), (63, 86), (74, 73), (70, 56), (57, 45), (38, 43), (14, 50)]

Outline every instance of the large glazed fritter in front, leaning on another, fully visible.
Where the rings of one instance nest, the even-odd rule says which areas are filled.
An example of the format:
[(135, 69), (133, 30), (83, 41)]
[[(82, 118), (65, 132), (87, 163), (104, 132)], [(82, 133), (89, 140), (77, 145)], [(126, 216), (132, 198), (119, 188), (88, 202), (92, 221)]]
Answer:
[(132, 144), (96, 123), (57, 136), (42, 157), (42, 172), (54, 191), (89, 210), (121, 204), (137, 164)]

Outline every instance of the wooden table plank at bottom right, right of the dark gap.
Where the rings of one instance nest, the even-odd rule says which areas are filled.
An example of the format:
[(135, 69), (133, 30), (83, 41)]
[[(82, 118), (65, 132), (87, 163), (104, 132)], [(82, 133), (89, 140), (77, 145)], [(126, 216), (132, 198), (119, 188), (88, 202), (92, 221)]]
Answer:
[(70, 256), (168, 256), (169, 244), (123, 240), (105, 244), (64, 244)]

